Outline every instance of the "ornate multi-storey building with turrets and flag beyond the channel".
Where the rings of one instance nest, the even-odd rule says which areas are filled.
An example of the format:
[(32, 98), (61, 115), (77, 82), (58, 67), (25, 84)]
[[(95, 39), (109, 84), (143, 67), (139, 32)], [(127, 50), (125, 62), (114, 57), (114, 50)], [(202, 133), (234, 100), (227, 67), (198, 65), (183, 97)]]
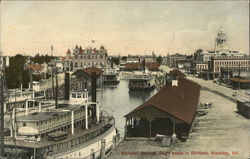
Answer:
[(72, 53), (70, 50), (66, 52), (69, 62), (66, 63), (66, 70), (78, 70), (87, 67), (103, 68), (107, 65), (107, 49), (101, 46), (100, 49), (88, 47), (82, 49), (82, 47), (76, 46)]

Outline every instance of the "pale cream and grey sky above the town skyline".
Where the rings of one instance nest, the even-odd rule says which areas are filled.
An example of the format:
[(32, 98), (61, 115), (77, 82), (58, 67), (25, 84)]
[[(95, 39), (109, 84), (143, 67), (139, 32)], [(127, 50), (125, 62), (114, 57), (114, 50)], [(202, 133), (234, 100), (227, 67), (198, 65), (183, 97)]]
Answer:
[[(229, 49), (249, 54), (248, 1), (1, 1), (4, 55), (65, 56), (76, 45), (108, 54), (192, 54), (213, 49), (220, 26)], [(95, 43), (92, 43), (92, 40)]]

